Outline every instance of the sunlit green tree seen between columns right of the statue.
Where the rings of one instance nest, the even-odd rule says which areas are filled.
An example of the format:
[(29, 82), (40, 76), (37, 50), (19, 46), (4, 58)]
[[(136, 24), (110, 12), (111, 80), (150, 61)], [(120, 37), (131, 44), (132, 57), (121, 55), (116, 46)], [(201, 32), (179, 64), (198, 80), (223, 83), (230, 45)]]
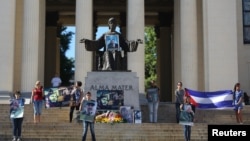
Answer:
[(154, 27), (145, 28), (145, 88), (151, 80), (156, 80), (156, 33)]

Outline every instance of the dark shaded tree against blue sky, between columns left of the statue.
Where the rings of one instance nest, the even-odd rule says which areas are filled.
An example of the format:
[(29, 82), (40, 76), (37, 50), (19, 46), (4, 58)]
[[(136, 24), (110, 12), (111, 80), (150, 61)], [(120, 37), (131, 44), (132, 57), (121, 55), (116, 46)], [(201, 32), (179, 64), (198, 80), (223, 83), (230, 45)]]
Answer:
[(74, 63), (73, 58), (66, 56), (66, 51), (69, 49), (72, 36), (74, 35), (71, 31), (66, 31), (67, 27), (58, 26), (57, 36), (60, 38), (60, 77), (62, 79), (62, 86), (69, 86), (70, 79), (74, 75)]

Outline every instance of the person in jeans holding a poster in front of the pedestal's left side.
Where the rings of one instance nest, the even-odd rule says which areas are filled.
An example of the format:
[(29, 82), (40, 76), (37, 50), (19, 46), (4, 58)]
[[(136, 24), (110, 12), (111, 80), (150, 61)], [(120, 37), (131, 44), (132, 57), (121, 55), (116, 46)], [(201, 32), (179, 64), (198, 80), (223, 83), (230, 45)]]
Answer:
[[(87, 92), (85, 98), (82, 98), (81, 100), (81, 106), (80, 106), (80, 109), (79, 111), (80, 112), (84, 112), (84, 109), (88, 109), (87, 107), (85, 106), (88, 106), (88, 104), (86, 103), (94, 103), (95, 100), (92, 100), (91, 99), (91, 93), (90, 92)], [(92, 105), (93, 106), (93, 105)], [(93, 107), (91, 107), (93, 108)], [(92, 111), (95, 111), (93, 109), (91, 109)], [(94, 115), (93, 115), (94, 114)], [(95, 138), (95, 130), (94, 130), (94, 119), (95, 119), (95, 112), (92, 113), (93, 115), (93, 120), (83, 120), (83, 136), (82, 136), (82, 141), (86, 141), (86, 137), (87, 137), (87, 132), (88, 132), (88, 126), (90, 127), (90, 132), (91, 132), (91, 137), (92, 137), (92, 141), (95, 141), (96, 138)]]

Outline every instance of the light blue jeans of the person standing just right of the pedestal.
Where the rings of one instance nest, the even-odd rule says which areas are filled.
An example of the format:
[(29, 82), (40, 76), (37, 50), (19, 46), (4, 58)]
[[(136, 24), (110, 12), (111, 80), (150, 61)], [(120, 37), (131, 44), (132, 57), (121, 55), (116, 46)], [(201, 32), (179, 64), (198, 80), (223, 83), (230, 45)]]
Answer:
[(149, 122), (157, 122), (157, 111), (159, 102), (148, 102)]

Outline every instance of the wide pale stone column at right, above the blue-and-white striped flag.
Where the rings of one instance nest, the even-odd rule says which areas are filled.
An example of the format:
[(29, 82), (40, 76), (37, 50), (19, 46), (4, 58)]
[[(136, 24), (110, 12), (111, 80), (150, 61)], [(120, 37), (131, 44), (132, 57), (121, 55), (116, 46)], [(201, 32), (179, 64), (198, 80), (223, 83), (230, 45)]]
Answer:
[[(244, 78), (249, 82), (249, 76), (242, 75), (244, 70), (249, 74), (247, 62), (241, 60), (249, 56), (243, 50), (249, 50), (249, 45), (240, 46), (242, 23), (238, 16), (242, 13), (237, 2), (203, 0), (202, 7), (205, 90), (231, 89), (236, 82), (243, 83)], [(247, 84), (241, 85), (242, 89), (244, 85)]]

